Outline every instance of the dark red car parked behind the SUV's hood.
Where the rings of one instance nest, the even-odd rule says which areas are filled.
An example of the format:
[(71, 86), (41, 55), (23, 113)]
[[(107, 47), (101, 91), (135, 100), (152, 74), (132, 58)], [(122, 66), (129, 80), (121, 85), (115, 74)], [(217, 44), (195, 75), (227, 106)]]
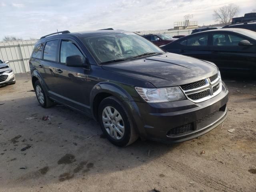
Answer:
[(142, 37), (146, 38), (147, 40), (151, 41), (157, 46), (166, 45), (178, 39), (178, 38), (172, 38), (171, 36), (166, 35), (164, 33), (147, 34), (147, 35), (142, 35)]

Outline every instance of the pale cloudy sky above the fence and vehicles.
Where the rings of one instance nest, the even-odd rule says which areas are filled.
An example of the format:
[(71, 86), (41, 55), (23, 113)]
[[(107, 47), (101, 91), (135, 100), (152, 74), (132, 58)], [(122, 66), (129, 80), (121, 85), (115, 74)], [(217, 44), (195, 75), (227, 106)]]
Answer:
[(216, 23), (213, 10), (229, 3), (240, 6), (238, 16), (256, 9), (256, 0), (0, 0), (0, 40), (40, 38), (56, 29), (167, 29), (186, 14), (202, 26)]

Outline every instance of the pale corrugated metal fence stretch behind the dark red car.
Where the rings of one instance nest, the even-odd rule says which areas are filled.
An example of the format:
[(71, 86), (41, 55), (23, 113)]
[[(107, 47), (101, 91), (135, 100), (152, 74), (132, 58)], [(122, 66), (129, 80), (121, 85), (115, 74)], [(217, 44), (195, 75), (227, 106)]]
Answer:
[(146, 35), (146, 34), (155, 34), (155, 33), (164, 33), (170, 36), (175, 35), (189, 35), (192, 32), (192, 29), (184, 29), (184, 30), (150, 30), (150, 31), (136, 31), (135, 33), (139, 35)]

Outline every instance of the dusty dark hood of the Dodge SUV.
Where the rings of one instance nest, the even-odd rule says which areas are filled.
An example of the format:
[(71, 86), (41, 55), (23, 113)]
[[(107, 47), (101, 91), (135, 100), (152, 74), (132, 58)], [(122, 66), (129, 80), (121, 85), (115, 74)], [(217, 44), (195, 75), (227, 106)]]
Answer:
[(214, 64), (173, 53), (103, 65), (102, 68), (148, 81), (155, 87), (196, 82), (218, 72)]

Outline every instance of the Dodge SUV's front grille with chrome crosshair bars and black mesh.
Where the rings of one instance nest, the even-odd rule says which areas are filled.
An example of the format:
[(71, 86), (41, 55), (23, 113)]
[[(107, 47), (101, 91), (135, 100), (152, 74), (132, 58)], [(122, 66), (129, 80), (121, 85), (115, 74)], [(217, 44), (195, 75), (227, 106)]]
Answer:
[(209, 78), (180, 86), (187, 98), (195, 103), (203, 102), (216, 96), (221, 92), (221, 87), (219, 72)]

